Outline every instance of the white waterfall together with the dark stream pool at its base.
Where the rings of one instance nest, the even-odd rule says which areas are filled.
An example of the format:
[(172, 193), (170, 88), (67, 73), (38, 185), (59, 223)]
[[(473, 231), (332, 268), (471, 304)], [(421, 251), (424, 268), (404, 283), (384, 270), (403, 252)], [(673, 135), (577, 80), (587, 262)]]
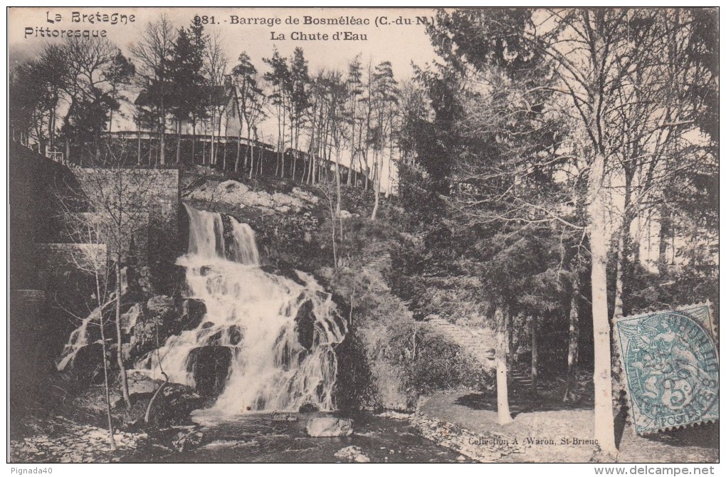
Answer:
[[(457, 460), (459, 454), (424, 439), (409, 420), (370, 413), (356, 415), (351, 436), (310, 437), (309, 419), (339, 414), (333, 396), (335, 347), (343, 341), (346, 322), (311, 275), (264, 272), (247, 224), (184, 208), (189, 247), (177, 263), (187, 270), (186, 297), (204, 301), (207, 312), (197, 328), (169, 338), (137, 369), (160, 378), (161, 356), (172, 381), (194, 386), (195, 355), (204, 348), (226, 348), (227, 379), (213, 405), (192, 414), (195, 426), (161, 430), (159, 439), (149, 439), (124, 460), (348, 462), (335, 453), (351, 446), (370, 462)], [(319, 411), (298, 413), (303, 406)], [(185, 438), (178, 436), (185, 433), (197, 442), (179, 449)]]

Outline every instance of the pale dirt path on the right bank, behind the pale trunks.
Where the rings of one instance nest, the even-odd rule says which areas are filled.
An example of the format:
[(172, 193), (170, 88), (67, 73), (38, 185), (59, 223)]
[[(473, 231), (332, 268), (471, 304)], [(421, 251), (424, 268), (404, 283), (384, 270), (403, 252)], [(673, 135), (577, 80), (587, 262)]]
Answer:
[[(423, 400), (415, 425), (428, 439), (482, 462), (592, 462), (591, 409), (520, 411), (497, 423), (494, 396), (457, 392)], [(618, 462), (718, 462), (716, 425), (657, 436), (622, 431)]]

